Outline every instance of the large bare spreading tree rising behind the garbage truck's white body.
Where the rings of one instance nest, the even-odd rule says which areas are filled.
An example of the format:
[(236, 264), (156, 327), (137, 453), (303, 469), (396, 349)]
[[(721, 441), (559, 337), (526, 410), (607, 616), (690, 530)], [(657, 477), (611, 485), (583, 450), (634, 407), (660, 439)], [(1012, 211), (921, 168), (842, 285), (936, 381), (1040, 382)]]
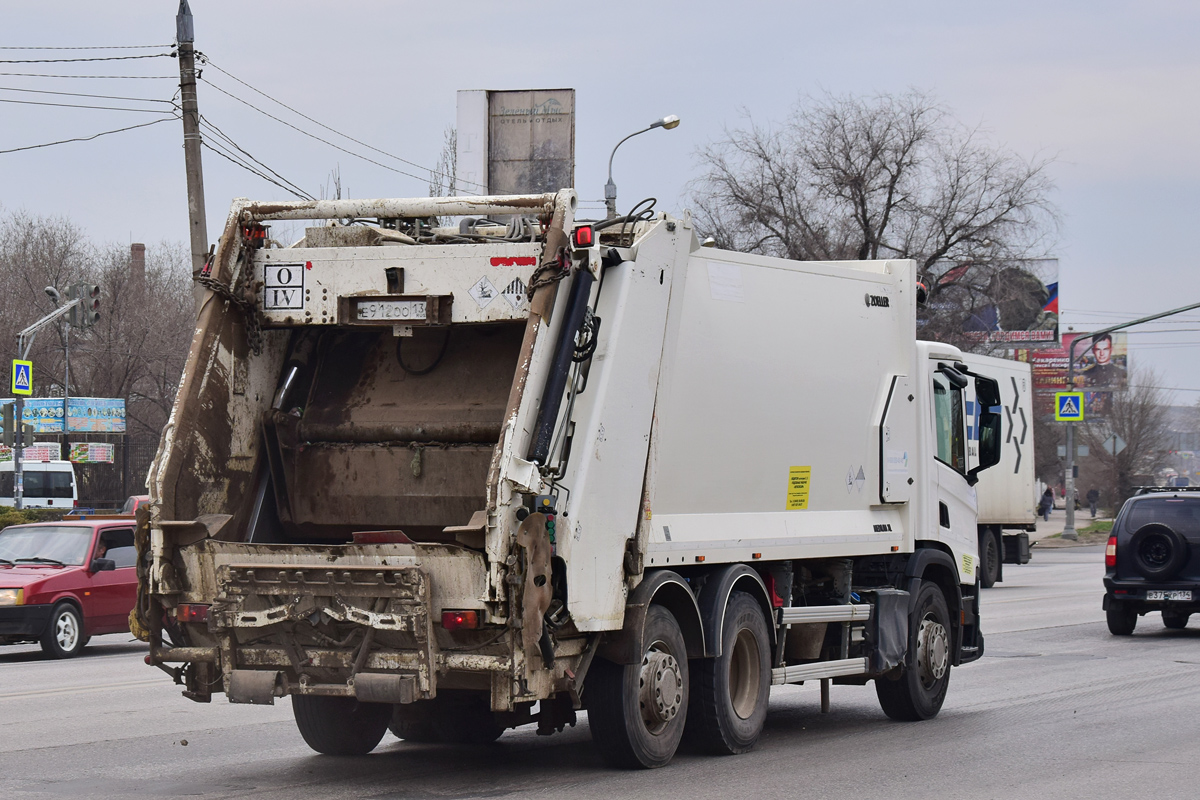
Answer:
[(971, 344), (964, 323), (984, 305), (1030, 313), (1021, 263), (1057, 230), (1050, 162), (989, 142), (918, 91), (805, 97), (782, 125), (726, 131), (700, 161), (697, 224), (719, 246), (916, 259), (922, 332), (942, 341)]

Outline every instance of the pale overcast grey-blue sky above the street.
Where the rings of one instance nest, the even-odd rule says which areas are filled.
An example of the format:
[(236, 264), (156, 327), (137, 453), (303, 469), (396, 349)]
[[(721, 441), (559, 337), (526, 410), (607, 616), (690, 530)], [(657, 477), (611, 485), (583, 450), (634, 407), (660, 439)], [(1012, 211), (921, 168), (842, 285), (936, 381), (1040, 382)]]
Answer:
[[(432, 167), (460, 89), (574, 88), (576, 186), (604, 197), (608, 154), (666, 114), (683, 122), (624, 144), (613, 166), (624, 207), (655, 197), (689, 205), (696, 151), (727, 128), (780, 121), (805, 94), (935, 95), (962, 122), (1026, 157), (1054, 160), (1062, 229), (1063, 330), (1094, 330), (1200, 302), (1200, 4), (1062, 0), (1006, 4), (863, 1), (384, 2), (194, 0), (196, 47), (212, 65), (340, 132)], [(0, 47), (169, 44), (176, 0), (6, 4)], [(138, 55), (138, 50), (0, 50), (0, 60)], [(158, 107), (12, 89), (168, 100), (168, 58), (0, 64), (0, 72), (143, 74), (168, 79), (0, 76), (0, 100)], [(174, 76), (176, 79), (170, 79)], [(317, 196), (341, 175), (349, 197), (420, 197), (427, 181), (306, 138), (217, 91), (380, 162), (210, 66), (202, 114), (246, 151)], [(158, 119), (152, 114), (0, 103), (0, 150)], [(0, 154), (0, 206), (64, 215), (102, 241), (186, 241), (179, 121), (91, 142)], [(210, 237), (235, 197), (282, 190), (204, 151)], [(1200, 313), (1135, 329), (1130, 361), (1200, 399)]]

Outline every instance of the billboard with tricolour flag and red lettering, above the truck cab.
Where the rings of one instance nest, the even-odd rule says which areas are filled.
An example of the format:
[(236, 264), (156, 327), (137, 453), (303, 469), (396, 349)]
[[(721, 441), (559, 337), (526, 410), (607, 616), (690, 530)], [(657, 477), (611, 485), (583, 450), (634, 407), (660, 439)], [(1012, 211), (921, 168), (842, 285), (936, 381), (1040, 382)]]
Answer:
[(1058, 341), (1058, 259), (960, 264), (937, 279), (962, 306), (962, 331), (974, 342), (1038, 345)]

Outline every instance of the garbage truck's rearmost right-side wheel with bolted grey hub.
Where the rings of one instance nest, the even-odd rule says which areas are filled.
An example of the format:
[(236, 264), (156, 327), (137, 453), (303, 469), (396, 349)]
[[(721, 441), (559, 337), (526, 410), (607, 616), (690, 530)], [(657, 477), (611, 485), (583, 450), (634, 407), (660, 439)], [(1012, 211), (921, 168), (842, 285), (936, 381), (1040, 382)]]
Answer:
[(688, 650), (671, 612), (649, 607), (638, 663), (596, 658), (584, 697), (592, 741), (608, 764), (665, 766), (688, 721)]

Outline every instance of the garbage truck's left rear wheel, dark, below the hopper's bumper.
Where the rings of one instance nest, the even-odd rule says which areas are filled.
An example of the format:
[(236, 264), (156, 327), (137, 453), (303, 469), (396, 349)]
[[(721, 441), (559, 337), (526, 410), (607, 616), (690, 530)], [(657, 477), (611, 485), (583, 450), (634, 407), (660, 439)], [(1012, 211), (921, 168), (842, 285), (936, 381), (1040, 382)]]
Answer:
[(292, 714), (308, 746), (326, 756), (366, 756), (388, 732), (391, 706), (353, 697), (293, 694)]

